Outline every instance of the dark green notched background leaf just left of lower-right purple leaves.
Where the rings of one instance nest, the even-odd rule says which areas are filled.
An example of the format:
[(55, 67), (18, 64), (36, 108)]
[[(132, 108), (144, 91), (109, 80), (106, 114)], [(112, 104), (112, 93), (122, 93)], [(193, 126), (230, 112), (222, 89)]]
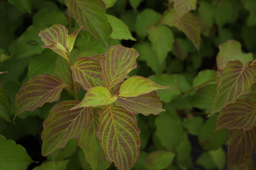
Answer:
[(227, 129), (214, 132), (217, 116), (210, 116), (204, 125), (201, 126), (198, 140), (205, 150), (215, 150), (222, 146), (228, 139)]

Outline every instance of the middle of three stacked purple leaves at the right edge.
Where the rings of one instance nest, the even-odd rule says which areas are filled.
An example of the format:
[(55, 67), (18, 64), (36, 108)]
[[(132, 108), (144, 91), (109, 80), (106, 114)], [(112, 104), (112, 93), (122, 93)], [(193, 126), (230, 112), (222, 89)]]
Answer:
[(216, 130), (244, 129), (250, 130), (256, 125), (256, 102), (250, 99), (238, 99), (228, 104), (219, 113)]

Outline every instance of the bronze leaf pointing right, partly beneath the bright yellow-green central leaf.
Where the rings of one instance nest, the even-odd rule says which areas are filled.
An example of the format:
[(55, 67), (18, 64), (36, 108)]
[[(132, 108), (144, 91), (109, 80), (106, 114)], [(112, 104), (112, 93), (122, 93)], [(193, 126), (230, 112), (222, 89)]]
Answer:
[(157, 91), (152, 91), (148, 94), (142, 94), (136, 97), (118, 97), (118, 105), (124, 107), (127, 111), (144, 115), (157, 115), (165, 110), (162, 109), (161, 99)]

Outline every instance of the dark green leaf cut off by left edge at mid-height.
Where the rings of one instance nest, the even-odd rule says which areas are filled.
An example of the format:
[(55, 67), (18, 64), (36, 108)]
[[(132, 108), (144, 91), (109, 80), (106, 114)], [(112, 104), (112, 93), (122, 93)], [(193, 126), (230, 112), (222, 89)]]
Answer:
[(11, 122), (10, 107), (11, 107), (11, 100), (3, 90), (3, 84), (0, 81), (0, 117), (5, 119), (8, 122)]

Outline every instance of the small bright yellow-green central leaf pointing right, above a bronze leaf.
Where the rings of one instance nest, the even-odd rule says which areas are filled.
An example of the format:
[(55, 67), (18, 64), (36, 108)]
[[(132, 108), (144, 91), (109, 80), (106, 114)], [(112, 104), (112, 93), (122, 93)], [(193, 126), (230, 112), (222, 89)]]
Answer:
[(169, 86), (161, 86), (151, 79), (141, 76), (133, 76), (125, 80), (119, 91), (119, 96), (122, 97), (135, 97), (141, 94), (146, 94), (158, 89), (167, 89)]

